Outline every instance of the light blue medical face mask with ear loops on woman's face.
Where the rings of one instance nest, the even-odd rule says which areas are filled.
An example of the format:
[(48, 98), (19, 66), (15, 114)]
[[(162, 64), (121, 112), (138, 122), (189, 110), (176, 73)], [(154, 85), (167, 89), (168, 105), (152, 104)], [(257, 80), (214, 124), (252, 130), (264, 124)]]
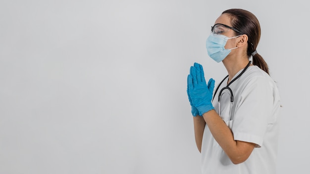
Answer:
[(242, 35), (235, 36), (232, 38), (228, 38), (227, 36), (224, 35), (213, 35), (211, 34), (207, 38), (206, 42), (206, 47), (207, 47), (207, 53), (208, 55), (215, 60), (217, 63), (221, 62), (224, 60), (224, 58), (230, 53), (232, 49), (236, 49), (238, 47), (230, 48), (230, 49), (225, 49), (225, 45), (227, 43), (227, 40), (233, 39), (233, 38), (238, 38)]

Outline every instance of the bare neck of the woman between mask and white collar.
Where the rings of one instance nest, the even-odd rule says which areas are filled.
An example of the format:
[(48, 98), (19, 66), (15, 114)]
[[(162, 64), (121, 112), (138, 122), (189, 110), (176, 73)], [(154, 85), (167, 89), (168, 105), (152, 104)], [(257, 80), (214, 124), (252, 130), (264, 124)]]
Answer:
[(228, 84), (240, 70), (244, 69), (247, 66), (247, 64), (249, 63), (249, 59), (248, 58), (243, 58), (239, 60), (231, 60), (231, 59), (225, 60), (225, 59), (222, 62), (228, 72), (228, 82), (227, 82)]

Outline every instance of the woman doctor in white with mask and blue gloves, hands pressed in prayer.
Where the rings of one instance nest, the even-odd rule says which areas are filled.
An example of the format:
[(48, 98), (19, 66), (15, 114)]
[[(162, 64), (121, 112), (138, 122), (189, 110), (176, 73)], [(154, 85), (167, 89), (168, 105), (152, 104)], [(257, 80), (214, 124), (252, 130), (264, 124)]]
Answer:
[(214, 89), (194, 63), (187, 93), (203, 174), (275, 174), (280, 97), (256, 50), (258, 19), (244, 9), (225, 10), (211, 27), (207, 53), (228, 76)]

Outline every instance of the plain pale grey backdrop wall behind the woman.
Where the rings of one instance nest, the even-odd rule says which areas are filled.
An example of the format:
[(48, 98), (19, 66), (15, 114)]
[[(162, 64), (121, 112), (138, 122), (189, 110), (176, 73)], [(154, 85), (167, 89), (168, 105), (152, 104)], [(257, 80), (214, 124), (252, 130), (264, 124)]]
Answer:
[(227, 75), (205, 44), (229, 8), (261, 25), (283, 106), (278, 174), (305, 173), (306, 3), (1, 0), (0, 174), (201, 174), (186, 79), (194, 62), (216, 83)]

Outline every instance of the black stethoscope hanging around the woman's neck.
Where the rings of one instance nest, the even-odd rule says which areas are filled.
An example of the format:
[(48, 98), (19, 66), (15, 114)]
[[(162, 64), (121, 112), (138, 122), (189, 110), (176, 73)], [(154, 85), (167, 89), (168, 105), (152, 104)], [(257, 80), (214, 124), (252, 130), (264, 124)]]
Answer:
[[(231, 110), (232, 110), (232, 106), (233, 106), (234, 95), (233, 95), (233, 92), (232, 92), (232, 90), (231, 90), (231, 88), (230, 88), (229, 86), (230, 86), (233, 82), (235, 82), (235, 81), (249, 68), (251, 62), (252, 62), (252, 61), (249, 61), (249, 63), (248, 63), (247, 66), (242, 70), (242, 72), (241, 72), (235, 79), (233, 79), (232, 81), (230, 81), (230, 82), (227, 84), (226, 87), (223, 87), (223, 88), (219, 91), (219, 93), (218, 93), (218, 115), (219, 115), (219, 116), (221, 115), (221, 114), (220, 114), (220, 112), (221, 112), (221, 110), (220, 110), (220, 101), (221, 101), (221, 97), (222, 97), (222, 91), (223, 91), (224, 89), (228, 89), (228, 91), (229, 91), (229, 93), (230, 93), (229, 120), (233, 120), (233, 119), (234, 119), (234, 118), (231, 118)], [(214, 92), (213, 99), (214, 99), (214, 97), (215, 97), (215, 94), (216, 94), (217, 90), (219, 89), (219, 87), (221, 86), (221, 84), (222, 84), (222, 83), (225, 81), (225, 79), (227, 79), (227, 78), (228, 78), (228, 75), (219, 83), (219, 85), (217, 86), (217, 88), (216, 88), (216, 90), (215, 90), (215, 92)], [(213, 101), (213, 99), (212, 99), (212, 101)]]

